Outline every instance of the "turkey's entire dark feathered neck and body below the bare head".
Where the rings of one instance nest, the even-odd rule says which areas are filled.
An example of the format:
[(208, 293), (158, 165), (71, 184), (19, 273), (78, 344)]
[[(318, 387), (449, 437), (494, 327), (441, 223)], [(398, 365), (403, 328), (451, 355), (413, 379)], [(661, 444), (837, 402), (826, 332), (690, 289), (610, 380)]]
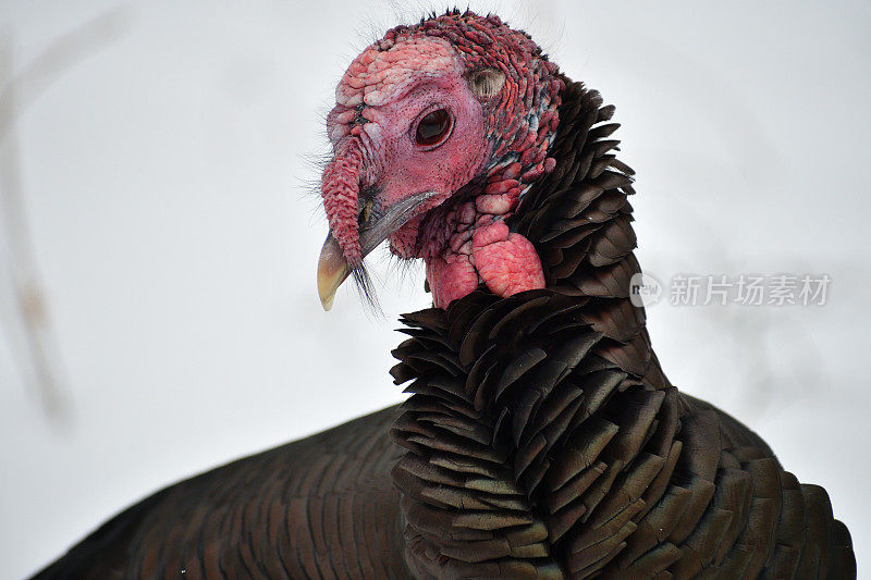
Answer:
[(510, 220), (545, 288), (404, 316), (402, 405), (168, 488), (36, 578), (855, 578), (826, 493), (666, 379), (614, 109), (561, 97)]

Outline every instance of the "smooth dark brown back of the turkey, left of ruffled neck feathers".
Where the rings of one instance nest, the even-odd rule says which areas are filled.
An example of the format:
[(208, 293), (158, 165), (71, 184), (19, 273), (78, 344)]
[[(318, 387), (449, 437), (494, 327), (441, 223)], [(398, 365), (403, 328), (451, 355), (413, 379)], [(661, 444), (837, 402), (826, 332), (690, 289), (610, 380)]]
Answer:
[(409, 578), (396, 409), (167, 488), (35, 578)]

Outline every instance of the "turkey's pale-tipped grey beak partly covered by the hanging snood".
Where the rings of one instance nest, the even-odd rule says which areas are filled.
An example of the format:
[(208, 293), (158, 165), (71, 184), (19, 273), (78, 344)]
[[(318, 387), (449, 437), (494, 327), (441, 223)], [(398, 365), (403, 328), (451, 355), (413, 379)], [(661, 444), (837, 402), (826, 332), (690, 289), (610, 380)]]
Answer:
[[(380, 209), (372, 200), (363, 203), (358, 215), (361, 256), (364, 258), (368, 256), (390, 237), (390, 234), (402, 227), (416, 214), (417, 209), (437, 193), (424, 192), (408, 196), (387, 210)], [(352, 270), (342, 252), (342, 247), (331, 232), (323, 243), (318, 260), (318, 294), (324, 310), (329, 311), (333, 307), (335, 292)]]

